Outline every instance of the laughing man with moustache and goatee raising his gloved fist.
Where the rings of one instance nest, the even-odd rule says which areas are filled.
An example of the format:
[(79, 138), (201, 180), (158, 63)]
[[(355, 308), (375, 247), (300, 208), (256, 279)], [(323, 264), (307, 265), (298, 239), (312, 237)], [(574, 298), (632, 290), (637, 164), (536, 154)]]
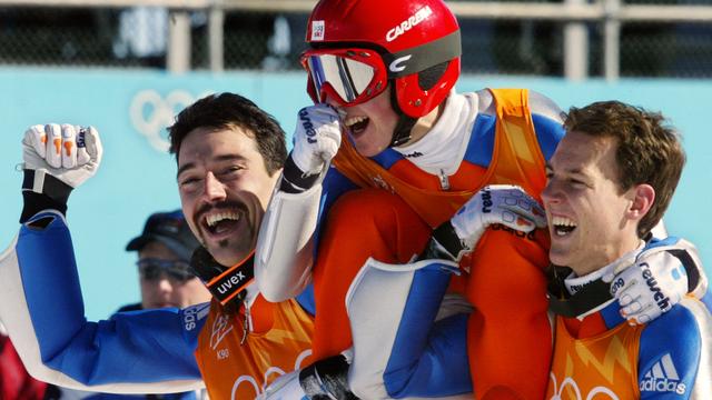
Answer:
[(248, 99), (221, 93), (181, 111), (169, 137), (182, 212), (202, 244), (191, 267), (211, 302), (86, 321), (63, 213), (102, 148), (93, 128), (50, 124), (23, 139), (22, 227), (0, 259), (0, 317), (28, 369), (58, 386), (176, 392), (202, 387), (202, 378), (212, 399), (255, 398), (312, 352), (309, 302), (269, 303), (253, 281), (257, 230), (286, 157), (284, 132)]

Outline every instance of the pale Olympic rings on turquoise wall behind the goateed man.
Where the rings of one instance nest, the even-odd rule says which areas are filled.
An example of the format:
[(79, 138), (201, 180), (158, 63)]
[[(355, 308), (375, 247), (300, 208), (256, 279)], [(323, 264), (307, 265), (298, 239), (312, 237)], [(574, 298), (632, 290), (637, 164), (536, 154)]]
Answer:
[(174, 123), (178, 112), (209, 93), (212, 92), (207, 91), (196, 98), (187, 91), (174, 90), (164, 99), (156, 90), (141, 90), (136, 93), (129, 107), (131, 124), (146, 137), (154, 149), (167, 152), (170, 142), (166, 128)]

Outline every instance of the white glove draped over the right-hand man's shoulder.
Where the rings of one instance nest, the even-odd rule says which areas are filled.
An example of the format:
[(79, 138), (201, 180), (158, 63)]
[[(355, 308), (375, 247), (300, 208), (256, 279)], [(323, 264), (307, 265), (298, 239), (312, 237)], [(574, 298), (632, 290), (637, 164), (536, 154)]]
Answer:
[(688, 293), (688, 273), (669, 248), (644, 249), (635, 264), (603, 276), (629, 323), (646, 323), (660, 317)]

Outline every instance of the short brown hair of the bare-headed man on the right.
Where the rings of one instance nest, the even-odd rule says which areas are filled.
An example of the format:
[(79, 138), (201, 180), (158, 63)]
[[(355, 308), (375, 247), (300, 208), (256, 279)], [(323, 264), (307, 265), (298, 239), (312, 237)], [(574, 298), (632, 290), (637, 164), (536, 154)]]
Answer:
[(646, 183), (655, 190), (655, 201), (637, 226), (641, 238), (660, 221), (670, 204), (685, 152), (680, 134), (660, 112), (646, 111), (620, 101), (600, 101), (584, 108), (572, 107), (564, 121), (566, 131), (615, 138), (615, 160), (621, 192)]

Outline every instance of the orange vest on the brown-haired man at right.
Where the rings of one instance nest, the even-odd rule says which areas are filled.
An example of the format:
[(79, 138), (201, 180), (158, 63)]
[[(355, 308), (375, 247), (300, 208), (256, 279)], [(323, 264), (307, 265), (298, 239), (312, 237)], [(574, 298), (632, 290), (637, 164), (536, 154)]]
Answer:
[(637, 354), (642, 330), (643, 326), (621, 323), (601, 334), (576, 339), (556, 317), (546, 399), (640, 399)]

